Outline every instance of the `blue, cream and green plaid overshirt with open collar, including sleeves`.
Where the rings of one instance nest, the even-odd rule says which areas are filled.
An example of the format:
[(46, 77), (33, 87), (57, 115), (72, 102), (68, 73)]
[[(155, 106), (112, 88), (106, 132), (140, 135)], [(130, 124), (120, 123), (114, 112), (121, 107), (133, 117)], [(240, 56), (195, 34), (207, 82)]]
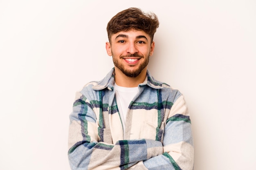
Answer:
[(192, 170), (191, 121), (183, 95), (147, 71), (123, 132), (114, 82), (112, 69), (76, 94), (69, 127), (71, 169)]

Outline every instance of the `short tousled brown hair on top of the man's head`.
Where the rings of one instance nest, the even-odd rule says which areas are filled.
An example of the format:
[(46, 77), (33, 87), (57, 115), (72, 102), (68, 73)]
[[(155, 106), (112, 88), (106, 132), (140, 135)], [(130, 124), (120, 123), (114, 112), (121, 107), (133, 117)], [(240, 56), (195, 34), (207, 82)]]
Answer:
[(153, 42), (158, 26), (159, 21), (154, 13), (144, 13), (139, 8), (128, 8), (117, 13), (108, 22), (108, 40), (111, 43), (111, 36), (113, 34), (133, 29), (144, 31), (150, 36), (151, 42)]

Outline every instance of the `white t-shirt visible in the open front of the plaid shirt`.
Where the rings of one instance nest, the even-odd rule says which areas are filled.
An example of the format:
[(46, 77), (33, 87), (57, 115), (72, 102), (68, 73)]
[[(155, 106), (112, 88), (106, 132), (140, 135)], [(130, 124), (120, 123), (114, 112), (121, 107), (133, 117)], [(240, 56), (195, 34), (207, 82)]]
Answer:
[(130, 102), (135, 97), (135, 95), (139, 92), (138, 87), (121, 87), (118, 86), (116, 83), (114, 84), (116, 98), (117, 98), (117, 106), (120, 113), (121, 121), (123, 124), (123, 128), (125, 131), (125, 121), (126, 121), (126, 114)]

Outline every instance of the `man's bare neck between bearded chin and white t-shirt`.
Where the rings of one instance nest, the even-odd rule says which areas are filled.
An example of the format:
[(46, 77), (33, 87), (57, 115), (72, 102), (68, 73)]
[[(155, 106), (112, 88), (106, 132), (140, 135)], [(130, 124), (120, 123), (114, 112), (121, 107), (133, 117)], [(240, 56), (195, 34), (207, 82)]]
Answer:
[(145, 68), (137, 77), (128, 77), (118, 68), (115, 68), (115, 83), (122, 87), (137, 87), (144, 82), (146, 74), (147, 69)]

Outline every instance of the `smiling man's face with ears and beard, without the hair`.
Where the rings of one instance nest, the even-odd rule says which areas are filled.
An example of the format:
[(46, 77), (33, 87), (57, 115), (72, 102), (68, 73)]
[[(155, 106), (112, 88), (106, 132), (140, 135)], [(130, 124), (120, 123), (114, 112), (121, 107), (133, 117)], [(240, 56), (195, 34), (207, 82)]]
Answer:
[(113, 57), (115, 71), (121, 71), (128, 77), (137, 77), (146, 71), (149, 57), (153, 55), (155, 43), (144, 31), (121, 31), (106, 43), (109, 56)]

